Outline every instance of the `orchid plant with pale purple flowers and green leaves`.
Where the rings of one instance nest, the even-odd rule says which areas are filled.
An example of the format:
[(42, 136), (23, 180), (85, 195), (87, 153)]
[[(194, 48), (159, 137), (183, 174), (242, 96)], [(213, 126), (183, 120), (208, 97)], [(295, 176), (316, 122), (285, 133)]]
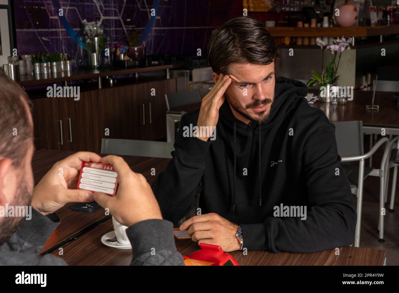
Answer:
[[(345, 38), (336, 38), (334, 39), (333, 45), (327, 45), (320, 37), (316, 38), (316, 44), (320, 46), (322, 51), (322, 71), (321, 74), (315, 71), (312, 71), (312, 77), (309, 79), (307, 86), (315, 87), (318, 85), (319, 89), (322, 86), (336, 85), (340, 75), (337, 76), (338, 66), (340, 65), (341, 54), (345, 50), (350, 50), (351, 47), (349, 45), (350, 37)], [(324, 60), (324, 51), (328, 50), (332, 54), (332, 59), (328, 61), (326, 65), (326, 70), (323, 68), (323, 60)], [(336, 59), (338, 56), (338, 63), (336, 64)]]

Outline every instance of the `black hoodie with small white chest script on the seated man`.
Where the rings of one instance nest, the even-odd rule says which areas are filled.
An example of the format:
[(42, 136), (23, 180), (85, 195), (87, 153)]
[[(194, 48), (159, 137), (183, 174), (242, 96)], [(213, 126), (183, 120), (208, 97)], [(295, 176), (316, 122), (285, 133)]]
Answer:
[[(197, 125), (199, 110), (185, 114), (172, 161), (152, 185), (164, 218), (182, 219), (201, 193), (201, 214), (240, 224), (248, 250), (316, 252), (352, 244), (356, 208), (335, 127), (306, 94), (303, 83), (278, 77), (269, 119), (249, 126), (226, 99), (215, 140), (207, 142), (183, 136), (184, 126)], [(284, 206), (306, 207), (306, 219), (283, 214)]]

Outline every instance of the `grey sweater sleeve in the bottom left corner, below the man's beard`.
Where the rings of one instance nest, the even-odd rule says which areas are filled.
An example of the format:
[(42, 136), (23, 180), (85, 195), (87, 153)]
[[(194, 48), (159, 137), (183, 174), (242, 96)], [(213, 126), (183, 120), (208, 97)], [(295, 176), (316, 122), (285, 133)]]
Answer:
[(38, 255), (59, 222), (56, 214), (43, 216), (32, 208), (32, 218), (23, 220), (18, 230), (0, 246), (0, 265), (66, 265), (55, 256)]

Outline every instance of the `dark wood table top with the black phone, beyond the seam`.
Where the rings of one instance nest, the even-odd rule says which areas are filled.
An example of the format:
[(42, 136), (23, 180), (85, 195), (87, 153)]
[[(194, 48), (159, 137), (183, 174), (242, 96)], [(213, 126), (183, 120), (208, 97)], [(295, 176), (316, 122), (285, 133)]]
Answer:
[[(55, 151), (48, 149), (41, 149), (35, 152), (32, 159), (32, 169), (34, 173), (35, 185), (47, 173), (52, 165), (64, 159), (65, 157), (75, 153), (74, 151)], [(104, 155), (102, 155), (104, 156)], [(128, 163), (130, 168), (137, 173), (142, 173), (147, 181), (151, 184), (154, 182), (156, 176), (152, 176), (151, 168), (156, 166), (156, 174), (158, 175), (168, 165), (170, 159), (164, 158), (150, 158), (150, 157), (136, 157), (136, 156), (121, 156)], [(86, 232), (88, 229), (96, 226), (99, 222), (110, 218), (111, 216), (105, 215), (102, 208), (94, 212), (76, 212), (71, 210), (74, 203), (67, 204), (60, 208), (56, 214), (61, 218), (61, 223), (55, 229), (53, 234), (45, 243), (42, 252), (52, 250), (55, 246), (73, 239), (80, 234)]]

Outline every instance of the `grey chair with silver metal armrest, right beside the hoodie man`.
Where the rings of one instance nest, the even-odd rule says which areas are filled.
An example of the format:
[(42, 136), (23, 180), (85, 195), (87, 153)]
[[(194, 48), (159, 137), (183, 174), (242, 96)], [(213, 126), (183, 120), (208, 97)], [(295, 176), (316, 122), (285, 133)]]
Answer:
[[(385, 195), (385, 174), (387, 169), (387, 159), (389, 155), (389, 139), (381, 138), (367, 153), (363, 150), (363, 122), (362, 121), (346, 121), (333, 122), (335, 124), (335, 137), (337, 141), (338, 154), (341, 156), (342, 162), (359, 161), (359, 167), (351, 165), (342, 165), (351, 185), (352, 193), (358, 197), (356, 210), (358, 212), (358, 220), (355, 229), (354, 246), (359, 247), (360, 244), (360, 224), (361, 224), (361, 205), (363, 201), (363, 181), (370, 176), (380, 177), (380, 202), (379, 208), (384, 206)], [(380, 169), (365, 167), (365, 159), (369, 158), (377, 149), (385, 143), (385, 150), (381, 160)], [(379, 212), (379, 241), (383, 242), (384, 222), (381, 212)]]

